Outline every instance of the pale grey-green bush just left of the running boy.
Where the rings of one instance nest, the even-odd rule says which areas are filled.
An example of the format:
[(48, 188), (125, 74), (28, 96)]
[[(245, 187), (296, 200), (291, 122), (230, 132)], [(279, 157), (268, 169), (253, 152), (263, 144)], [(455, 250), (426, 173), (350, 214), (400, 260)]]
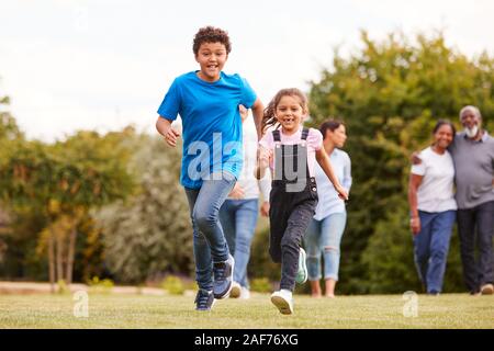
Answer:
[(183, 188), (179, 183), (180, 147), (162, 138), (144, 137), (131, 168), (141, 192), (127, 203), (104, 207), (105, 260), (115, 278), (137, 283), (166, 272), (191, 274), (192, 229)]

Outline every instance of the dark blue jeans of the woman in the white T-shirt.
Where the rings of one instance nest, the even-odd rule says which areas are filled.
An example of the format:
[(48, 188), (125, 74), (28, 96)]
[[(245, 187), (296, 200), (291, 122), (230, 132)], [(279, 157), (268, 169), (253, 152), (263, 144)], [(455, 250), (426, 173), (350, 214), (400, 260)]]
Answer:
[(449, 241), (457, 212), (418, 211), (420, 231), (414, 236), (414, 258), (427, 293), (440, 293), (448, 259)]

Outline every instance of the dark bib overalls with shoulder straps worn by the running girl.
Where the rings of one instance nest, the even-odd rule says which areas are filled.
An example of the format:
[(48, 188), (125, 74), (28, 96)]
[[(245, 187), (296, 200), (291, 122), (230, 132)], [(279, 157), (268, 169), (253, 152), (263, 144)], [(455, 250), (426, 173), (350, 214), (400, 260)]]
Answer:
[[(308, 129), (303, 128), (301, 143), (295, 145), (282, 145), (279, 129), (272, 135), (276, 163), (269, 195), (269, 253), (274, 262), (281, 262), (280, 288), (293, 291), (300, 245), (317, 205), (317, 186), (308, 173)], [(299, 172), (299, 168), (305, 171)]]

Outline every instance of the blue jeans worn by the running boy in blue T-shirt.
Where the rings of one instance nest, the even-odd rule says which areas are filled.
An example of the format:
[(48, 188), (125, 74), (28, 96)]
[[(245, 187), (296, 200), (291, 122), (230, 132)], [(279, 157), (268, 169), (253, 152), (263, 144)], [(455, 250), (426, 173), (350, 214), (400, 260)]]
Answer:
[[(216, 180), (220, 178), (220, 180)], [(193, 230), (195, 280), (200, 288), (213, 288), (213, 261), (228, 259), (228, 245), (220, 223), (220, 207), (235, 185), (229, 172), (204, 180), (200, 189), (186, 188)]]

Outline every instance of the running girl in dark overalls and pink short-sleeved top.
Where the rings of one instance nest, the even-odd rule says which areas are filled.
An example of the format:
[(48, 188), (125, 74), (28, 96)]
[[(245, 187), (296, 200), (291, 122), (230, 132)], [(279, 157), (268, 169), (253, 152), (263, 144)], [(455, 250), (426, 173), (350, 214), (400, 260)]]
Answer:
[(281, 263), (281, 281), (271, 302), (284, 315), (293, 313), (295, 280), (303, 283), (307, 276), (305, 252), (300, 245), (317, 205), (315, 160), (339, 196), (348, 199), (323, 148), (323, 135), (317, 129), (302, 127), (307, 113), (307, 99), (299, 89), (279, 91), (262, 120), (263, 131), (269, 126), (276, 129), (262, 137), (258, 149), (256, 177), (262, 178), (268, 167), (273, 172), (269, 253), (274, 262)]

